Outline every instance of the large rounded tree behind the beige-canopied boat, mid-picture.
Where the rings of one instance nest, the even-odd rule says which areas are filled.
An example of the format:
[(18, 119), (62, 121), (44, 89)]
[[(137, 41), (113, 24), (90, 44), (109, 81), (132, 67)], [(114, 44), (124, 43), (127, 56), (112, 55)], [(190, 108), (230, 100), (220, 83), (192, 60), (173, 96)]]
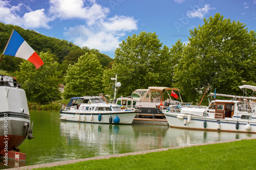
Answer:
[(134, 34), (119, 44), (115, 51), (115, 63), (108, 75), (118, 74), (118, 81), (122, 84), (119, 94), (126, 96), (138, 88), (170, 86), (169, 57), (169, 48), (162, 48), (156, 33)]

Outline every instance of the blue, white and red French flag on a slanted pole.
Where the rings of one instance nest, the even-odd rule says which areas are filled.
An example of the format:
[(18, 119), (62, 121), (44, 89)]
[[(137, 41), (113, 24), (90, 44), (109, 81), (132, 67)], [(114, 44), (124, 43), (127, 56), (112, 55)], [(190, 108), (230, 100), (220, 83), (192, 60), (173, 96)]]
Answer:
[(44, 64), (33, 48), (14, 29), (12, 30), (11, 36), (6, 44), (3, 55), (28, 60), (35, 65), (36, 69)]

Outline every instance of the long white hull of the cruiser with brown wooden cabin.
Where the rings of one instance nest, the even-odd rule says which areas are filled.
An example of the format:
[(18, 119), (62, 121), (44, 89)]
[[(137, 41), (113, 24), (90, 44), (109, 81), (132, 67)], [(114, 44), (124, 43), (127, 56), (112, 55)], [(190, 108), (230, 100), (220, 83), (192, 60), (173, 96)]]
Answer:
[[(215, 119), (199, 116), (191, 116), (190, 123), (186, 123), (188, 115), (179, 116), (178, 114), (164, 112), (166, 120), (170, 127), (184, 128), (184, 129), (198, 129), (198, 130), (212, 130), (212, 131), (230, 131), (230, 132), (246, 132), (246, 133), (256, 133), (256, 120), (253, 118), (249, 121), (250, 130), (246, 130), (246, 125), (248, 120), (236, 120), (234, 118), (225, 119)], [(178, 117), (179, 118), (178, 118)], [(184, 118), (181, 118), (184, 117)], [(185, 119), (185, 120), (184, 120)], [(206, 125), (205, 123), (206, 122)], [(237, 122), (239, 126), (237, 129)], [(184, 125), (186, 123), (186, 125)], [(220, 123), (220, 124), (218, 124)], [(205, 127), (206, 126), (206, 127)]]

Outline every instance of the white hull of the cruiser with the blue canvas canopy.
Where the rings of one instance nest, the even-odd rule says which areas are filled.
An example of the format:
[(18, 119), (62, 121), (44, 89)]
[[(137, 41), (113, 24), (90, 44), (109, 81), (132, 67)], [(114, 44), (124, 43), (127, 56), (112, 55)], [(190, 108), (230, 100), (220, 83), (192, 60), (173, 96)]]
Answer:
[[(134, 111), (124, 111), (118, 113), (78, 113), (78, 112), (66, 112), (61, 111), (60, 119), (72, 122), (83, 122), (83, 123), (97, 123), (97, 124), (110, 124), (110, 117), (112, 117), (112, 124), (115, 124), (114, 118), (118, 116), (120, 122), (118, 124), (130, 125), (133, 123), (133, 119), (137, 113)], [(101, 120), (99, 121), (99, 115), (101, 115)]]

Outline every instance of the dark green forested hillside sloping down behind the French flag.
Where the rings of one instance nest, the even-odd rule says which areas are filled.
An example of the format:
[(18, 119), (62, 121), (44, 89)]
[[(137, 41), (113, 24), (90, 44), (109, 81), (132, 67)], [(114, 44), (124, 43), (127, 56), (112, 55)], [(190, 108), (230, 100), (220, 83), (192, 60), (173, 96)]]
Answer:
[[(33, 30), (25, 30), (18, 26), (5, 25), (2, 22), (0, 22), (0, 53), (3, 53), (13, 28), (28, 42), (37, 54), (40, 52), (49, 52), (52, 54), (53, 58), (61, 64), (63, 74), (66, 73), (69, 64), (77, 62), (78, 58), (85, 53), (95, 54), (103, 68), (108, 68), (110, 62), (114, 61), (114, 59), (108, 55), (101, 54), (96, 49), (90, 49), (87, 46), (81, 48), (67, 40), (48, 37)], [(19, 69), (18, 64), (20, 62), (22, 62), (22, 59), (3, 57), (0, 63), (0, 69), (14, 72)]]

